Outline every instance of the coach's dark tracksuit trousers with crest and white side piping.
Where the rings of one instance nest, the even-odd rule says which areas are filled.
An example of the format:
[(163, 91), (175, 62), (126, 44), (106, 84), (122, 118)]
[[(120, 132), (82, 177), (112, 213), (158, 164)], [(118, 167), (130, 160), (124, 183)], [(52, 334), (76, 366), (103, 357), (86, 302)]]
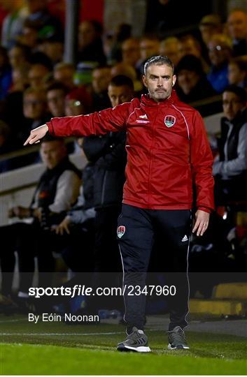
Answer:
[(164, 263), (159, 272), (166, 272), (167, 286), (176, 286), (176, 295), (167, 295), (170, 313), (169, 330), (187, 325), (188, 314), (188, 249), (191, 232), (191, 212), (181, 210), (141, 209), (122, 206), (118, 218), (118, 239), (123, 265), (125, 289), (125, 321), (127, 327), (143, 329), (146, 295), (134, 294), (129, 286), (146, 284), (146, 274), (155, 237), (162, 240), (160, 252)]

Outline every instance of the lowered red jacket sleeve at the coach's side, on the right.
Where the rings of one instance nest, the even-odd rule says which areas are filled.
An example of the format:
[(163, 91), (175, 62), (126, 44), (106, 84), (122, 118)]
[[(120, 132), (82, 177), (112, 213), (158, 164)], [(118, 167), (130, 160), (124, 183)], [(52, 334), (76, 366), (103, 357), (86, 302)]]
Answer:
[(213, 155), (206, 136), (204, 121), (199, 112), (193, 116), (190, 135), (190, 163), (195, 184), (197, 209), (211, 212), (214, 209)]

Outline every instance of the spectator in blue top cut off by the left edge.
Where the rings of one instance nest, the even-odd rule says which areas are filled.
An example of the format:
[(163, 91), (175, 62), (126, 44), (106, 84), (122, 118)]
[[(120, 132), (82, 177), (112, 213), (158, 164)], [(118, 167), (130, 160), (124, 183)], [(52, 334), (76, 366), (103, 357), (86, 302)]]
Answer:
[(8, 63), (7, 50), (5, 47), (0, 46), (0, 101), (6, 97), (11, 81), (11, 69)]

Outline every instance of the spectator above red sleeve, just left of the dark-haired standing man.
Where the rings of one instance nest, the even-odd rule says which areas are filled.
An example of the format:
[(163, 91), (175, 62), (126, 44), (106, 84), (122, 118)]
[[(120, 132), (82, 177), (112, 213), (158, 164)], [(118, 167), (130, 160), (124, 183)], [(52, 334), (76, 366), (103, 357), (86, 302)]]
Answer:
[(92, 71), (92, 108), (94, 111), (109, 108), (108, 84), (111, 80), (111, 68), (101, 67)]

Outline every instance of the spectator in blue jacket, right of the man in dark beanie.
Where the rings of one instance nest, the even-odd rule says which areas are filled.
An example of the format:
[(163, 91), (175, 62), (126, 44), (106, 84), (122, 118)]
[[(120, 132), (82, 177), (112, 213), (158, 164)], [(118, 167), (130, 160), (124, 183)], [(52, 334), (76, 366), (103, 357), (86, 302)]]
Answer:
[(232, 56), (232, 43), (225, 34), (215, 34), (208, 43), (211, 68), (207, 75), (217, 93), (222, 93), (228, 85), (227, 69)]

